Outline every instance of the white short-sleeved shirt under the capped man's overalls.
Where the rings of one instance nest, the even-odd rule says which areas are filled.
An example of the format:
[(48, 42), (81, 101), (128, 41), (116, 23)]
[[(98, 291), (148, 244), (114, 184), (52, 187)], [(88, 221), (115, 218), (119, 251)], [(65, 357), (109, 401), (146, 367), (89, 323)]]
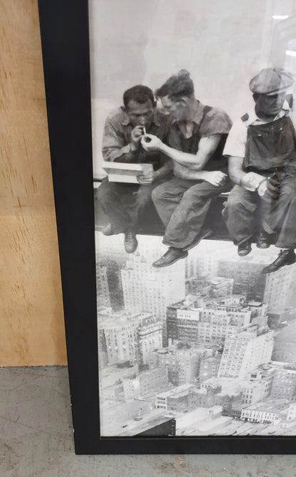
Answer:
[(263, 125), (267, 124), (268, 122), (274, 122), (280, 119), (280, 117), (289, 116), (295, 127), (295, 117), (294, 115), (290, 114), (290, 107), (287, 101), (285, 101), (284, 105), (282, 106), (282, 110), (280, 111), (280, 113), (271, 121), (261, 120), (255, 114), (255, 110), (248, 112), (247, 115), (247, 120), (243, 121), (239, 119), (238, 121), (233, 123), (233, 127), (231, 127), (231, 130), (228, 134), (228, 138), (226, 140), (226, 145), (223, 150), (224, 156), (245, 157), (245, 145), (247, 142), (249, 125)]

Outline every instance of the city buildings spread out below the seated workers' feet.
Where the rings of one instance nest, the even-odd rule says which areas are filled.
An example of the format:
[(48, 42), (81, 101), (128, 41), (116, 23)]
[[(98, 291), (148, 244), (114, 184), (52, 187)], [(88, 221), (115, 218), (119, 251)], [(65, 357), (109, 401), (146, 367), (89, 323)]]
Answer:
[(95, 239), (102, 435), (295, 434), (295, 265), (208, 240), (156, 269), (161, 237)]

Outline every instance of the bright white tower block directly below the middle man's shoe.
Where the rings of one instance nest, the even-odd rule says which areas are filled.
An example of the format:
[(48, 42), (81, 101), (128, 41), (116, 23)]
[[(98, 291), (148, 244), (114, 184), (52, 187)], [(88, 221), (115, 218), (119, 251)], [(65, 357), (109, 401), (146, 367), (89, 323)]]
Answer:
[(125, 310), (146, 311), (165, 321), (166, 307), (185, 298), (184, 261), (166, 268), (153, 268), (144, 255), (134, 254), (122, 270)]

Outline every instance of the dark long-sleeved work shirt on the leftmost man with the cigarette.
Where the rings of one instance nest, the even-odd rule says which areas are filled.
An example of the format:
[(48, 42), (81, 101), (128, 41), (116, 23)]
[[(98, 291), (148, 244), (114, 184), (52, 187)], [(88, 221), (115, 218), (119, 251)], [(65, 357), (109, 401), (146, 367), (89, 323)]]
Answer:
[[(131, 150), (133, 129), (134, 126), (129, 121), (124, 108), (117, 108), (110, 112), (105, 122), (102, 138), (102, 157), (105, 161), (110, 162), (134, 162), (138, 164), (149, 162), (154, 164), (154, 169), (158, 169), (164, 162), (162, 154), (144, 151), (141, 145), (136, 151)], [(168, 116), (155, 110), (154, 120), (147, 132), (165, 141), (168, 132)]]

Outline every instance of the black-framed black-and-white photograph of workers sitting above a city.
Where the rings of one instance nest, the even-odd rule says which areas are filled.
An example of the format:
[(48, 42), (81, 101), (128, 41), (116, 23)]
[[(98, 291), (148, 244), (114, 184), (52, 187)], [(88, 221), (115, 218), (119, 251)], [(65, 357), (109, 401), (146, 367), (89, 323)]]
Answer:
[(292, 454), (295, 5), (38, 6), (76, 453)]

